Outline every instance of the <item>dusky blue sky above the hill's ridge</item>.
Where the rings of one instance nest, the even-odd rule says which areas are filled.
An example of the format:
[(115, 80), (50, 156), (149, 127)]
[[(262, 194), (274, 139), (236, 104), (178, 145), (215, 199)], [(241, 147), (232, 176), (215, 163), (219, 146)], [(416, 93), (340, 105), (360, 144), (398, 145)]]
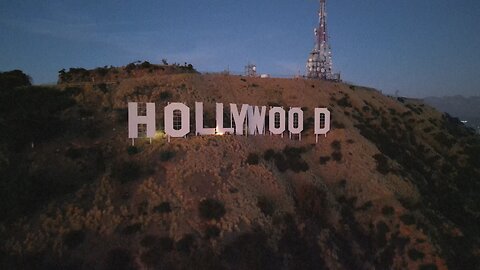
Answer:
[[(62, 68), (136, 60), (201, 72), (305, 73), (316, 0), (0, 0), (0, 71), (36, 84)], [(480, 95), (480, 1), (328, 0), (335, 71), (402, 96)]]

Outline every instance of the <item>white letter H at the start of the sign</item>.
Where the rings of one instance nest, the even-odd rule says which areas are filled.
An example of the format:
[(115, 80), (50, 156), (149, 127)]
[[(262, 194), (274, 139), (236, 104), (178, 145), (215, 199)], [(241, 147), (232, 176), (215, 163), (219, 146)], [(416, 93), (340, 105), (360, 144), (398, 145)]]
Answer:
[(147, 103), (147, 115), (138, 115), (138, 103), (128, 103), (128, 138), (138, 138), (138, 125), (147, 125), (147, 137), (155, 136), (155, 103)]

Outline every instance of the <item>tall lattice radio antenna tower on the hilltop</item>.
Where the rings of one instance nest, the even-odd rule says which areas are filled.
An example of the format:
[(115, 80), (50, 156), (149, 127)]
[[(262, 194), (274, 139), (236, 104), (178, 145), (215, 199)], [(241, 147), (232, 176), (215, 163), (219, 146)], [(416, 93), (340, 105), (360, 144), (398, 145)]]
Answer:
[(326, 0), (320, 0), (319, 23), (315, 28), (315, 47), (307, 61), (307, 78), (340, 81), (333, 73), (332, 51), (328, 44)]

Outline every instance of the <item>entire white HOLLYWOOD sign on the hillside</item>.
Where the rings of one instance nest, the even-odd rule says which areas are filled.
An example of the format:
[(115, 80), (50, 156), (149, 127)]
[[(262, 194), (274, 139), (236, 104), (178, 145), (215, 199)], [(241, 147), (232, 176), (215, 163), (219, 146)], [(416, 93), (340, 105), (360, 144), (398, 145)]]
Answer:
[[(195, 134), (196, 135), (263, 135), (266, 133), (265, 120), (266, 106), (252, 106), (230, 104), (230, 127), (224, 127), (223, 104), (216, 103), (216, 126), (205, 127), (203, 121), (203, 103), (195, 102)], [(288, 115), (288, 117), (287, 117)], [(288, 126), (287, 126), (288, 122)], [(146, 103), (145, 115), (138, 115), (138, 103), (128, 103), (128, 137), (138, 138), (138, 126), (146, 125), (146, 137), (153, 138), (156, 132), (155, 103)], [(268, 110), (268, 132), (273, 135), (285, 133), (288, 127), (290, 138), (298, 135), (301, 140), (303, 131), (303, 110), (291, 107), (288, 114), (283, 107), (270, 107)], [(330, 111), (327, 108), (314, 110), (314, 134), (318, 142), (318, 135), (327, 135), (330, 131)], [(190, 133), (190, 108), (183, 103), (169, 103), (164, 108), (164, 131), (170, 140), (182, 138)]]

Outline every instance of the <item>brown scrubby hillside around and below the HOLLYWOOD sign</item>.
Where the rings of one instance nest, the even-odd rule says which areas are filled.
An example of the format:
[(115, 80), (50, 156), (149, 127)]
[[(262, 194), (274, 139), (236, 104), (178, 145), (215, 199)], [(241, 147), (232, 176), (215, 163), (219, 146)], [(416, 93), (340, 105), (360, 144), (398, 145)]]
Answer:
[[(4, 129), (2, 269), (478, 269), (480, 137), (458, 120), (342, 83), (154, 67), (74, 70), (26, 99), (65, 106)], [(4, 88), (4, 106), (50, 93)], [(202, 101), (210, 126), (215, 102), (299, 106), (306, 128), (132, 147), (128, 101), (155, 102), (159, 124)], [(318, 144), (315, 107), (332, 113)]]

